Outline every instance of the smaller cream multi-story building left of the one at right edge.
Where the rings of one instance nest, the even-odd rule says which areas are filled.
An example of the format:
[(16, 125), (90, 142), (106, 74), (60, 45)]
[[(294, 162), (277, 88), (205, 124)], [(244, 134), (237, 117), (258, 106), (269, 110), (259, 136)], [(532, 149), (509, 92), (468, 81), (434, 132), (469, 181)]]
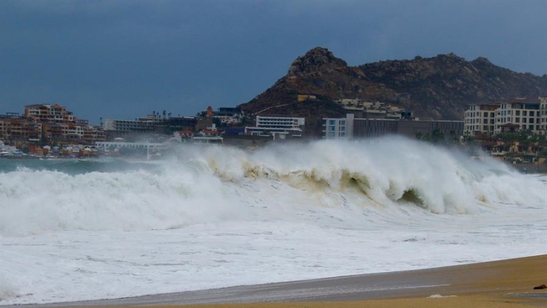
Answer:
[(478, 136), (479, 134), (494, 134), (496, 110), (500, 103), (475, 103), (467, 105), (464, 113), (464, 134)]

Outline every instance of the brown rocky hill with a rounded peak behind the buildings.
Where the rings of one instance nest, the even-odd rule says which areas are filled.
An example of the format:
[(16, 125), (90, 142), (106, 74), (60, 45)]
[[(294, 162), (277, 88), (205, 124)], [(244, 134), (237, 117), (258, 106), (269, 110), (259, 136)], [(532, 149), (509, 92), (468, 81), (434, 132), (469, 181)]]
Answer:
[[(299, 102), (298, 94), (317, 99)], [(345, 114), (336, 99), (383, 101), (409, 108), (422, 119), (458, 120), (468, 103), (544, 94), (547, 75), (513, 72), (482, 57), (466, 61), (440, 54), (351, 67), (318, 47), (294, 60), (285, 76), (240, 107), (254, 114), (306, 116), (307, 123), (320, 127), (321, 118)]]

